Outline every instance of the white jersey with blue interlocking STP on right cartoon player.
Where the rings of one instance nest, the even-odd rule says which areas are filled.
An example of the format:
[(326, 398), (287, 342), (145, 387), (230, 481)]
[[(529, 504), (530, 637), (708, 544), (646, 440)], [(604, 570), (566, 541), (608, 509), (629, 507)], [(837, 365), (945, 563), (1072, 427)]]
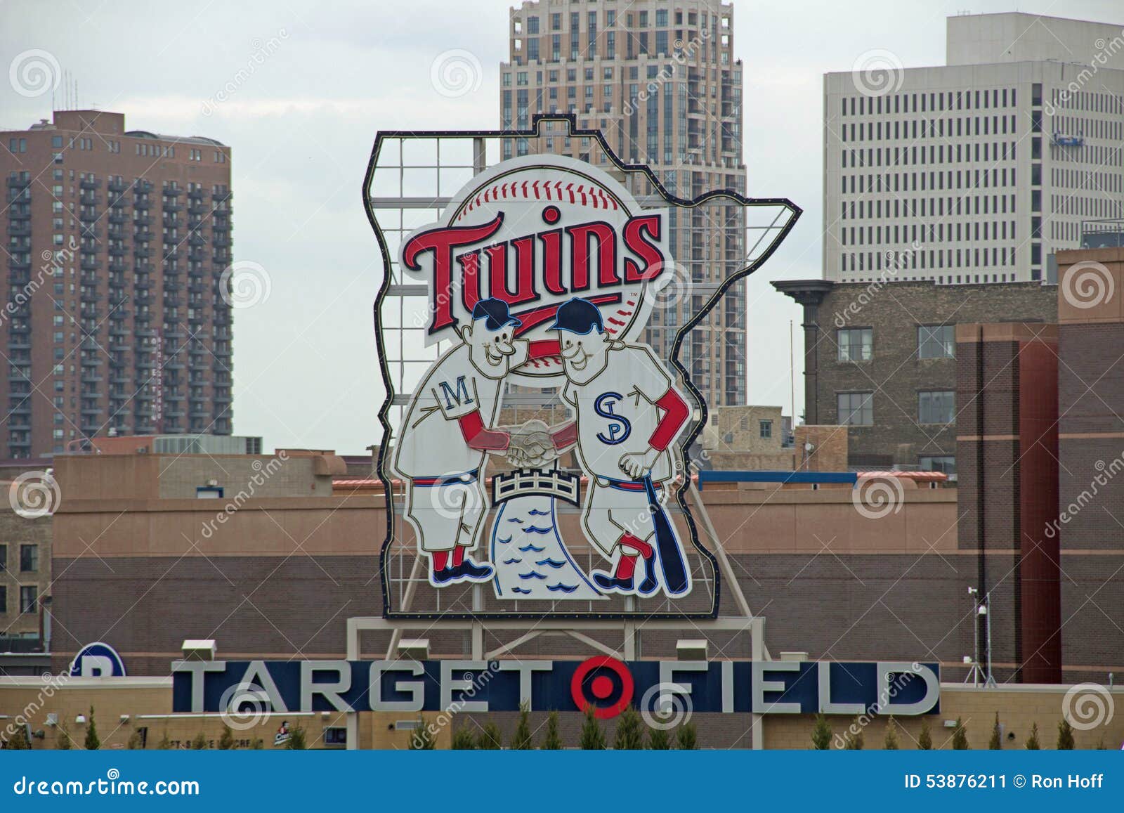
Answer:
[[(620, 470), (619, 460), (650, 449), (649, 439), (663, 414), (655, 401), (671, 387), (671, 377), (652, 351), (631, 344), (609, 350), (605, 369), (592, 381), (568, 382), (562, 398), (577, 413), (582, 468), (596, 477), (632, 479)], [(671, 455), (663, 452), (652, 467), (652, 479), (667, 480), (671, 475)]]

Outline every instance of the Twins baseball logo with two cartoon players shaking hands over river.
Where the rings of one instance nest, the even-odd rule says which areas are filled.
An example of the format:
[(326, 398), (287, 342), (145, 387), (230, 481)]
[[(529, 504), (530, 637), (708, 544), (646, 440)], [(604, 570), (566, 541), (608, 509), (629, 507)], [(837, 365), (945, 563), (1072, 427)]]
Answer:
[(687, 201), (662, 202), (642, 207), (592, 164), (524, 155), (402, 235), (400, 279), (428, 291), (441, 352), (413, 391), (388, 391), (405, 396), (395, 424), (383, 408), (386, 615), (717, 613), (716, 560), (685, 499), (705, 405), (645, 343), (677, 277), (669, 213)]

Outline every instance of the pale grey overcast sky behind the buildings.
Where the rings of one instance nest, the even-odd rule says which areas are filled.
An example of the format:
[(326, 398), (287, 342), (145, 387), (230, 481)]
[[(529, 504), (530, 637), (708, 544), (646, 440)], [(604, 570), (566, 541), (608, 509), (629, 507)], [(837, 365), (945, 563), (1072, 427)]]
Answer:
[[(749, 282), (749, 400), (788, 414), (790, 322), (803, 403), (800, 314), (769, 280), (821, 275), (822, 75), (851, 70), (872, 49), (892, 52), (906, 67), (942, 64), (944, 18), (968, 8), (1107, 22), (1124, 13), (1118, 0), (734, 6), (749, 193), (788, 197), (805, 210)], [(381, 399), (371, 316), (380, 263), (361, 198), (374, 135), (497, 127), (508, 8), (491, 0), (0, 0), (0, 62), (42, 48), (78, 79), (82, 107), (124, 112), (130, 129), (232, 146), (235, 259), (260, 263), (271, 282), (265, 301), (235, 313), (234, 431), (263, 435), (266, 449), (359, 453), (379, 441)], [(447, 98), (430, 83), (430, 66), (454, 48), (473, 54), (482, 71), (475, 91)], [(219, 101), (248, 64), (252, 75)], [(49, 116), (49, 94), (27, 98), (0, 83), (0, 128)]]

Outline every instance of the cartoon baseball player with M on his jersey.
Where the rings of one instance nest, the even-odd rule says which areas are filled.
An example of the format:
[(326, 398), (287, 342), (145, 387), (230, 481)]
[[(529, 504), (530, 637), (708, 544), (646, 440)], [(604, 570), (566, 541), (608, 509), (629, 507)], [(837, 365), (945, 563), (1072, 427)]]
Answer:
[(504, 378), (531, 358), (558, 354), (555, 341), (515, 338), (520, 325), (501, 299), (477, 302), (461, 343), (429, 369), (402, 422), (395, 471), (407, 481), (406, 517), (429, 555), (434, 587), (492, 577), (465, 554), (488, 513), (486, 455), (507, 453), (511, 442), (493, 428)]

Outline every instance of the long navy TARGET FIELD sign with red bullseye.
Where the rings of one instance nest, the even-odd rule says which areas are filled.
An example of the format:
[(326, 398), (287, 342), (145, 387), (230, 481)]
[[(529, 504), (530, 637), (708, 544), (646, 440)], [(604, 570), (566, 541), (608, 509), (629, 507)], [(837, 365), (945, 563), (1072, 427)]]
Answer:
[(690, 704), (695, 712), (940, 711), (940, 667), (900, 661), (175, 661), (173, 712), (581, 711)]

